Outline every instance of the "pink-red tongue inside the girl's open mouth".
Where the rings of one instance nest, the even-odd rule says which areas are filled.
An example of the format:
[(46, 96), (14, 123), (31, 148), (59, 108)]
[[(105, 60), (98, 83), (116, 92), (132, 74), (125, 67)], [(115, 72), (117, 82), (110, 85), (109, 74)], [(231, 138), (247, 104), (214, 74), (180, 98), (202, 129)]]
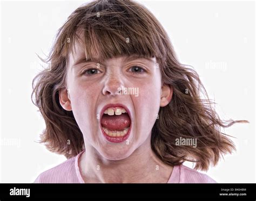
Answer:
[(126, 127), (130, 126), (131, 120), (127, 113), (113, 116), (103, 114), (101, 123), (108, 130), (123, 131)]

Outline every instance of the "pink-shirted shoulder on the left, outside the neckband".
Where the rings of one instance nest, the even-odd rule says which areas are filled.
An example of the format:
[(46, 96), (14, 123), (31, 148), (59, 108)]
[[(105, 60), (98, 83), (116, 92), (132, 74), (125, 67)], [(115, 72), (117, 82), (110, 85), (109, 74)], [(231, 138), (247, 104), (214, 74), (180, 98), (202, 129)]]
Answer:
[(41, 173), (33, 183), (78, 183), (76, 176), (76, 157)]

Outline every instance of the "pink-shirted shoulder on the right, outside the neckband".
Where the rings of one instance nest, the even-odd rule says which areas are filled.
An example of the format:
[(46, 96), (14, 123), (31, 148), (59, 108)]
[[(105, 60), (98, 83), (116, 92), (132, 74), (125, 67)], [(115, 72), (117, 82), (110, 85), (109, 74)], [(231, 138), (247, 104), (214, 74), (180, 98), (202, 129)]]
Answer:
[(180, 183), (217, 183), (206, 174), (199, 173), (196, 170), (188, 168), (181, 164)]

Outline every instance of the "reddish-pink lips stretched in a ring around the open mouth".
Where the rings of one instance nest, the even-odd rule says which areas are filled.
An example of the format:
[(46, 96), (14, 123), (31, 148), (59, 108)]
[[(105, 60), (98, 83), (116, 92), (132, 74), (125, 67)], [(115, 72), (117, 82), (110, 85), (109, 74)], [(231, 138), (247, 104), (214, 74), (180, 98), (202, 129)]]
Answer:
[(105, 139), (106, 139), (107, 141), (110, 141), (110, 142), (116, 142), (116, 143), (123, 142), (123, 141), (125, 141), (127, 138), (129, 138), (129, 135), (130, 135), (130, 133), (131, 133), (132, 119), (131, 119), (131, 124), (130, 124), (129, 131), (128, 131), (124, 136), (122, 136), (122, 137), (110, 137), (109, 135), (107, 135), (107, 134), (105, 133), (105, 131), (104, 131), (103, 128), (102, 128), (102, 124), (101, 124), (101, 122), (102, 122), (102, 116), (103, 116), (103, 114), (104, 114), (104, 111), (105, 111), (107, 108), (109, 108), (109, 107), (123, 107), (123, 108), (126, 110), (126, 112), (128, 113), (130, 119), (131, 119), (131, 112), (130, 112), (130, 110), (129, 110), (125, 105), (123, 105), (123, 104), (107, 104), (107, 105), (105, 105), (105, 106), (103, 107), (102, 111), (100, 111), (100, 119), (99, 119), (100, 130), (102, 130), (102, 133), (103, 133)]

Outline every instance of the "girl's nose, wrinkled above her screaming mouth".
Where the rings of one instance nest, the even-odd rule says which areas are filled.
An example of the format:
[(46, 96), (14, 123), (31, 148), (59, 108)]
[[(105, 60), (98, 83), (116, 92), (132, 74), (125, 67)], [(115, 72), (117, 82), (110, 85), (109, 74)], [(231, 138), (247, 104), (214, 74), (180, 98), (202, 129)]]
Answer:
[(109, 75), (107, 78), (104, 88), (102, 90), (103, 95), (113, 95), (116, 96), (120, 94), (123, 89), (123, 83), (117, 75)]

